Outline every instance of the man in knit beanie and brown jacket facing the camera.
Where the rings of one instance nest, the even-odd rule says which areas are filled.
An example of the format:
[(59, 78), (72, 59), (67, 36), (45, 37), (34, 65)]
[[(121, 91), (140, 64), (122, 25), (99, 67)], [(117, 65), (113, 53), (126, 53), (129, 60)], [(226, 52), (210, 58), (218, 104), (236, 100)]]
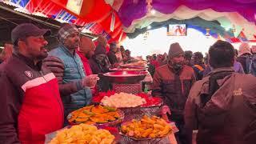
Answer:
[(184, 65), (184, 51), (177, 42), (170, 45), (167, 60), (166, 65), (155, 70), (152, 95), (164, 99), (165, 105), (172, 112), (168, 115), (169, 119), (174, 121), (179, 129), (175, 137), (178, 143), (186, 144), (183, 110), (190, 88), (195, 82), (194, 70)]

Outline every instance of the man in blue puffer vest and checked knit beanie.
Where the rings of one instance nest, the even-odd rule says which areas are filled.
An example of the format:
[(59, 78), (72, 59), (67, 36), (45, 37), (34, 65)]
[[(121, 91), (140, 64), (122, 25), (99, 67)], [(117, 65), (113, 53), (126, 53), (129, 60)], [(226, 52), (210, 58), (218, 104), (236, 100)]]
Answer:
[(90, 104), (90, 87), (95, 86), (98, 77), (85, 75), (82, 61), (75, 52), (80, 44), (80, 35), (74, 25), (62, 26), (58, 31), (58, 39), (60, 46), (50, 51), (44, 63), (58, 78), (66, 120), (67, 114)]

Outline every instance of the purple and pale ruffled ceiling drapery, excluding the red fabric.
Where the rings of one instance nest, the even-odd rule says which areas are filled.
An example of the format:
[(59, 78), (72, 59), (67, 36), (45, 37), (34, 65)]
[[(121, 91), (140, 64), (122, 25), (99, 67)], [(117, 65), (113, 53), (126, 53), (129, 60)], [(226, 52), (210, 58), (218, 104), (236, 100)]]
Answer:
[[(207, 21), (218, 20), (226, 29), (235, 27), (234, 35), (240, 32), (254, 38), (256, 22), (255, 0), (105, 0), (118, 12), (124, 31), (133, 33), (152, 22), (163, 22), (170, 18), (183, 20), (195, 17)], [(150, 6), (156, 14), (150, 14)]]

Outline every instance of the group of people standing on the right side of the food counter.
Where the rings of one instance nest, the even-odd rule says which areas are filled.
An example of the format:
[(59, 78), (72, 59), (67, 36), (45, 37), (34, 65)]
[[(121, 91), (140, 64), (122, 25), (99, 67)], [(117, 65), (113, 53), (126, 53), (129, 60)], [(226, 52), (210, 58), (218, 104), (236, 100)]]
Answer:
[[(178, 43), (169, 54), (147, 57), (153, 67), (153, 96), (169, 106), (178, 126), (178, 143), (252, 144), (256, 138), (255, 46), (239, 50), (218, 41), (209, 54), (183, 51)], [(166, 64), (165, 64), (166, 63)]]

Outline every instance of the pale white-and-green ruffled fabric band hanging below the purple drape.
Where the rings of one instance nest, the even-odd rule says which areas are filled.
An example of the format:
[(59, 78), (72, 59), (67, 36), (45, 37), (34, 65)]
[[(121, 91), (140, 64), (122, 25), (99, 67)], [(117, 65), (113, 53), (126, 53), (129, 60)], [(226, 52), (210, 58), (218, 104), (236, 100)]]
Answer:
[(134, 20), (131, 26), (124, 27), (124, 31), (126, 33), (133, 33), (135, 28), (141, 29), (143, 27), (149, 26), (152, 22), (163, 22), (170, 18), (184, 20), (195, 17), (199, 17), (207, 21), (217, 20), (221, 23), (221, 26), (223, 27), (232, 28), (234, 26), (236, 29), (236, 36), (238, 36), (241, 30), (244, 30), (244, 33), (248, 38), (254, 38), (254, 34), (256, 31), (256, 26), (254, 22), (248, 22), (246, 18), (243, 18), (238, 13), (219, 13), (211, 9), (191, 10), (186, 6), (178, 7), (178, 9), (175, 10), (172, 14), (162, 14), (157, 11), (154, 15), (147, 15), (146, 17)]

